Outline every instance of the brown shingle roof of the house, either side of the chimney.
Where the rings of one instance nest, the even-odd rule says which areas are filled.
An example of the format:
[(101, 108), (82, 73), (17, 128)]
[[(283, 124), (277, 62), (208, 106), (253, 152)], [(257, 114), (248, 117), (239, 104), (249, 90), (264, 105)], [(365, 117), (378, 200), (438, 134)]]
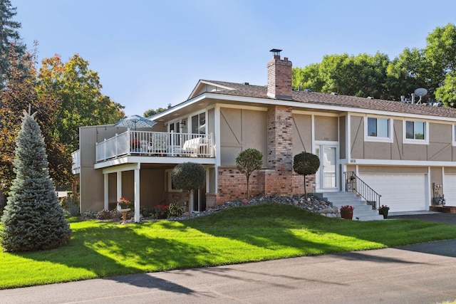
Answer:
[[(217, 80), (202, 81), (207, 81), (208, 83), (214, 83), (217, 85), (232, 88), (232, 90), (212, 92), (214, 94), (242, 96), (249, 98), (268, 98), (274, 100), (274, 98), (268, 97), (266, 86), (246, 85), (243, 83), (229, 83)], [(429, 105), (413, 105), (410, 103), (400, 103), (399, 101), (392, 100), (369, 99), (355, 96), (333, 95), (330, 93), (316, 93), (307, 91), (293, 91), (291, 97), (296, 103), (328, 105), (334, 107), (333, 110), (336, 110), (337, 107), (344, 107), (353, 109), (366, 109), (372, 111), (388, 111), (404, 114), (456, 118), (455, 108), (432, 107)]]

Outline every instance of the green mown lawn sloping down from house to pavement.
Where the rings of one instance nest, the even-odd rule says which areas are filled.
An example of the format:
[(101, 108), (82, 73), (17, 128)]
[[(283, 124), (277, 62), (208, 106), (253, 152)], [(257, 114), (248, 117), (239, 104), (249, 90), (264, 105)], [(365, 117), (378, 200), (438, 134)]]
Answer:
[(71, 229), (71, 243), (62, 248), (0, 252), (0, 289), (456, 239), (452, 225), (329, 219), (283, 204), (185, 221), (73, 220)]

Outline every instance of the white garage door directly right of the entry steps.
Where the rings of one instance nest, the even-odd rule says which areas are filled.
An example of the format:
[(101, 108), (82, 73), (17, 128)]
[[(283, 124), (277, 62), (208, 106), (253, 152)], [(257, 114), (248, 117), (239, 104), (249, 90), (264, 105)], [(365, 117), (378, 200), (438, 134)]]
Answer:
[(425, 174), (362, 174), (369, 187), (381, 195), (380, 204), (390, 212), (426, 209)]

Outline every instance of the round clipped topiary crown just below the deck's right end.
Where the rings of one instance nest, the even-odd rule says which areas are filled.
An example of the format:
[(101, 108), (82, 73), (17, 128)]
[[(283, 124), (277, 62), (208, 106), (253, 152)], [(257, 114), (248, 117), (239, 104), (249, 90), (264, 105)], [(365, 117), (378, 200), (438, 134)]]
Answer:
[(183, 162), (172, 169), (171, 180), (177, 189), (199, 189), (204, 186), (206, 171), (202, 164)]

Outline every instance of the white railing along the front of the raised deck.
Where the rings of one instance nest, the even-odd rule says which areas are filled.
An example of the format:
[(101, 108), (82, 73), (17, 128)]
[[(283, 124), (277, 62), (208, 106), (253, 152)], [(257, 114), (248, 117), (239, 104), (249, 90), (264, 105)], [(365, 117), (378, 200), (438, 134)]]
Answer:
[(128, 130), (95, 145), (96, 162), (124, 155), (214, 157), (213, 136)]

